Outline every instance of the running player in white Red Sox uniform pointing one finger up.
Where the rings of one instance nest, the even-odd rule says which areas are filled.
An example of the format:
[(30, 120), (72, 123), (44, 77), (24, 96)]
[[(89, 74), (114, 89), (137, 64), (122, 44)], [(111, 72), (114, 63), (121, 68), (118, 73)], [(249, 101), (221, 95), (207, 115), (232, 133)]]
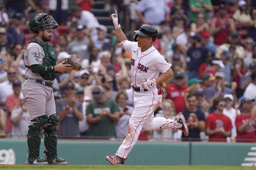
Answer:
[[(114, 156), (106, 156), (106, 160), (113, 165), (122, 165), (127, 155), (134, 147), (143, 127), (146, 131), (154, 129), (180, 129), (188, 135), (188, 127), (184, 116), (173, 120), (164, 117), (154, 117), (154, 111), (162, 100), (162, 89), (156, 84), (170, 78), (173, 72), (171, 64), (167, 63), (162, 55), (152, 46), (156, 40), (157, 30), (152, 25), (142, 25), (134, 31), (134, 41), (128, 41), (120, 28), (117, 12), (112, 14), (117, 41), (120, 46), (132, 55), (131, 78), (134, 90), (134, 112), (130, 117), (126, 139)], [(159, 73), (162, 74), (159, 76)]]

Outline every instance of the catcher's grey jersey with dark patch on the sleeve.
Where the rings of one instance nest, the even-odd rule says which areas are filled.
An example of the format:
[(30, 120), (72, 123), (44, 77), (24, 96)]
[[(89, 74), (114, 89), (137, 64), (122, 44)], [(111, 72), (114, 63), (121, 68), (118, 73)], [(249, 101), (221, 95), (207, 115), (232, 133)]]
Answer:
[[(32, 66), (34, 64), (42, 65), (44, 56), (45, 56), (44, 50), (38, 43), (29, 43), (24, 54), (25, 66)], [(40, 76), (40, 74), (33, 73), (30, 68), (26, 68), (25, 74), (27, 78), (44, 80)], [(50, 80), (44, 80), (44, 81), (52, 82)]]

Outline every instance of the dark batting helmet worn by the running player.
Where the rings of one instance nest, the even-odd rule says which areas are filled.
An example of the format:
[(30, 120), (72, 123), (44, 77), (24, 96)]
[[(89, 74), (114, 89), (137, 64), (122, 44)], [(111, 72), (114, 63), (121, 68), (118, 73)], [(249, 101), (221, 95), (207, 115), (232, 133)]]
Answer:
[(152, 37), (152, 40), (155, 42), (157, 34), (158, 34), (157, 30), (156, 30), (156, 28), (154, 26), (146, 25), (146, 24), (142, 25), (139, 30), (134, 31), (134, 32), (136, 32), (136, 34), (133, 37), (133, 40), (135, 42), (137, 41), (137, 37), (139, 35), (144, 36), (144, 37)]

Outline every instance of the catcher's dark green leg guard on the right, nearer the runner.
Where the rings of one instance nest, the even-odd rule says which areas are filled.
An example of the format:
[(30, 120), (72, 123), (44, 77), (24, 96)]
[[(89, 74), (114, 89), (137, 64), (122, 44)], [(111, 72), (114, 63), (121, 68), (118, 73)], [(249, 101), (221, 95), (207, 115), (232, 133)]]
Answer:
[(57, 133), (60, 125), (60, 117), (56, 114), (50, 115), (47, 127), (44, 127), (44, 146), (47, 162), (52, 163), (57, 156)]

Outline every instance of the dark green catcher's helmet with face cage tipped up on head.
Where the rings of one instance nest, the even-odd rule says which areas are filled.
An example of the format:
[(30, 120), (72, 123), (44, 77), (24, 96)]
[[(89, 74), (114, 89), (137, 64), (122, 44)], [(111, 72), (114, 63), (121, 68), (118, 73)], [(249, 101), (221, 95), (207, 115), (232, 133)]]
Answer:
[(58, 27), (58, 23), (54, 20), (54, 18), (46, 13), (36, 14), (36, 16), (29, 21), (28, 25), (33, 33), (41, 29), (55, 29)]

